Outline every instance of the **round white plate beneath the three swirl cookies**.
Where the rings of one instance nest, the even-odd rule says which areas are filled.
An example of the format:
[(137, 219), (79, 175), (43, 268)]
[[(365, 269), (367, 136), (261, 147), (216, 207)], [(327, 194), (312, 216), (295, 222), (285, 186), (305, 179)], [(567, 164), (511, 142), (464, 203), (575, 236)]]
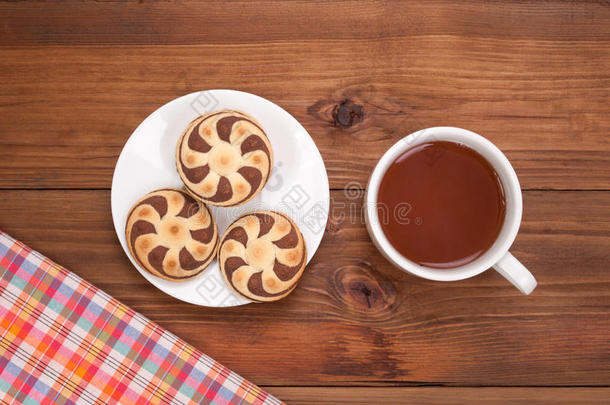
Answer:
[(307, 262), (320, 245), (328, 219), (329, 188), (326, 168), (315, 143), (301, 124), (276, 104), (235, 90), (207, 90), (177, 98), (149, 115), (133, 132), (119, 156), (112, 179), (112, 219), (125, 254), (136, 269), (161, 291), (182, 301), (210, 307), (247, 304), (225, 284), (218, 263), (196, 278), (174, 283), (155, 277), (134, 261), (127, 249), (125, 221), (131, 206), (158, 188), (182, 187), (176, 171), (176, 142), (197, 116), (235, 109), (254, 117), (273, 147), (274, 167), (265, 188), (246, 204), (210, 207), (220, 234), (238, 216), (273, 209), (290, 215), (307, 243)]

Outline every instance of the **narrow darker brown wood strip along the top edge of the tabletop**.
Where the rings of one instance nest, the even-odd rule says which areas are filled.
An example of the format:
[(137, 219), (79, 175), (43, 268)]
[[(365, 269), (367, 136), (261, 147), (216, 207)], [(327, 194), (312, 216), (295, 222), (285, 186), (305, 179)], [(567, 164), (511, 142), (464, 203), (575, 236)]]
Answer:
[(194, 44), (415, 35), (607, 40), (606, 2), (1, 2), (0, 45)]

